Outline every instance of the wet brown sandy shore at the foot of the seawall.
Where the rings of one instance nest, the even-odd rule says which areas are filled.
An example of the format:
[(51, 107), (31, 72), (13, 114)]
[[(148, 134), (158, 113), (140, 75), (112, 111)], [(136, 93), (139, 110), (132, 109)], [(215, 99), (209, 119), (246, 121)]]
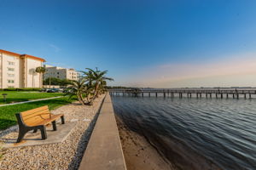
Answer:
[(176, 170), (172, 163), (160, 156), (157, 150), (142, 136), (128, 130), (125, 124), (116, 116), (119, 135), (125, 155), (128, 170)]

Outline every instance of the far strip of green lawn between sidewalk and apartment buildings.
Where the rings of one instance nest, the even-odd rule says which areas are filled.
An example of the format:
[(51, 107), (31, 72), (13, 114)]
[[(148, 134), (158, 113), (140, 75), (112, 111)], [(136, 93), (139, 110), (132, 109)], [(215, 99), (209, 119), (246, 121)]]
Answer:
[[(6, 102), (3, 101), (3, 94), (7, 94)], [(32, 99), (45, 99), (61, 96), (62, 93), (24, 92), (24, 91), (0, 91), (0, 105), (28, 101)]]

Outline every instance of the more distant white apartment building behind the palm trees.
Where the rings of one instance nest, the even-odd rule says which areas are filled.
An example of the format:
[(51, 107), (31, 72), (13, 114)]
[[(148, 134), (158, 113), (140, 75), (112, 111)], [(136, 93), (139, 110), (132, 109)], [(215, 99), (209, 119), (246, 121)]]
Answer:
[(79, 80), (79, 72), (74, 69), (61, 68), (58, 66), (44, 65), (46, 71), (44, 73), (44, 80), (49, 77), (55, 77), (68, 80)]

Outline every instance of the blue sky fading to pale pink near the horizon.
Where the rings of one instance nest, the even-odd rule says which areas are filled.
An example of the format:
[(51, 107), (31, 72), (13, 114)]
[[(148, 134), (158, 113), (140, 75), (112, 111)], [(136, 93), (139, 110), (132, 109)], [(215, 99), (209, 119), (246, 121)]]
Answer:
[(110, 85), (256, 87), (254, 0), (0, 0), (0, 48)]

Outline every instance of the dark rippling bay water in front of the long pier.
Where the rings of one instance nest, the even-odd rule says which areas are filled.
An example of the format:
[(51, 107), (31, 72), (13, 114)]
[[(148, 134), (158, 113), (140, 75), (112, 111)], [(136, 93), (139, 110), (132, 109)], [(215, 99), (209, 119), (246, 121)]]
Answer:
[(256, 169), (256, 99), (112, 96), (125, 124), (183, 169)]

